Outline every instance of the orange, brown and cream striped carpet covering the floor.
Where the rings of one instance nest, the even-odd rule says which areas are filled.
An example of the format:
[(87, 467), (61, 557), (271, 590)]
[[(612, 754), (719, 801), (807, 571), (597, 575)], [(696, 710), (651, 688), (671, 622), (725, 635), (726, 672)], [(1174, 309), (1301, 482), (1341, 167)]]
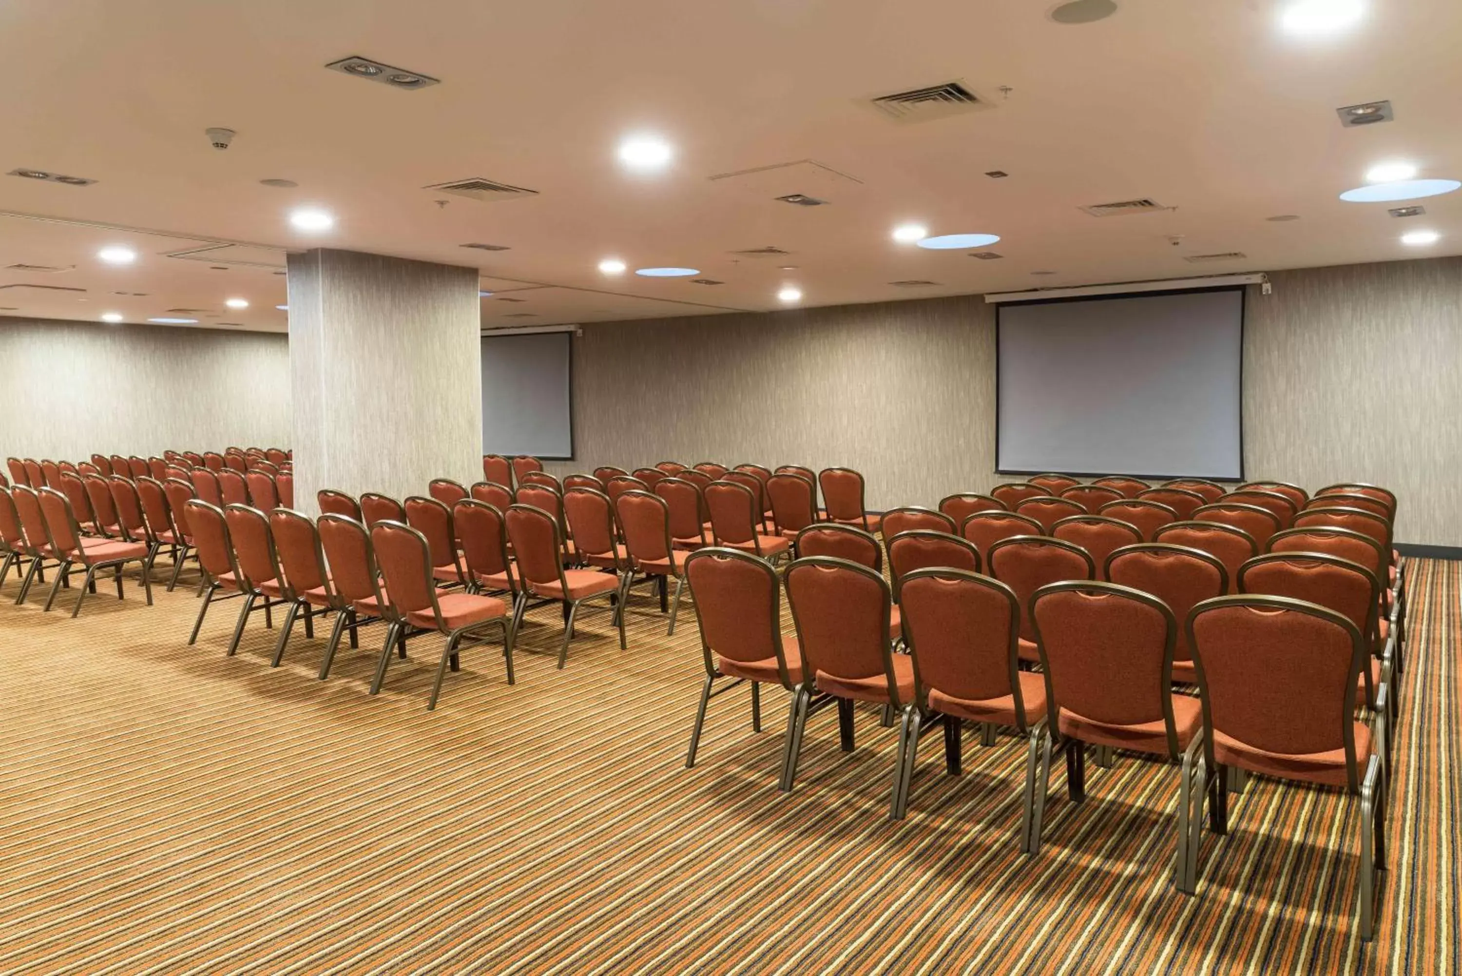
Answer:
[(968, 737), (961, 777), (925, 740), (902, 824), (886, 818), (895, 733), (871, 710), (852, 754), (816, 716), (784, 796), (785, 695), (766, 695), (756, 735), (737, 689), (686, 770), (694, 616), (667, 639), (648, 591), (627, 651), (586, 612), (557, 672), (557, 615), (539, 609), (516, 686), (499, 654), (468, 651), (428, 714), (434, 638), (370, 698), (379, 625), (322, 683), (323, 641), (297, 634), (270, 670), (262, 622), (227, 658), (232, 604), (186, 647), (181, 588), (148, 609), (102, 587), (72, 620), (10, 606), (12, 578), (0, 973), (1462, 972), (1462, 563), (1412, 560), (1409, 578), (1370, 947), (1358, 811), (1336, 795), (1251, 780), (1186, 898), (1168, 872), (1175, 768), (1136, 757), (1088, 765), (1079, 808), (1053, 764), (1037, 859), (1016, 849), (1013, 736)]

